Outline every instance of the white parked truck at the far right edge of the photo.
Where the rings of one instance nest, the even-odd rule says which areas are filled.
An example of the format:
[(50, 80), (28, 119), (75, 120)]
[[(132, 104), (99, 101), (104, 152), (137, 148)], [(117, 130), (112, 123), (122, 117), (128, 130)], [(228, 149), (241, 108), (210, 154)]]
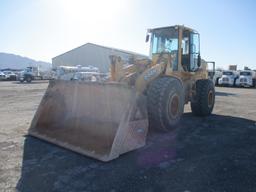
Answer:
[(256, 87), (256, 72), (251, 70), (240, 71), (236, 86)]

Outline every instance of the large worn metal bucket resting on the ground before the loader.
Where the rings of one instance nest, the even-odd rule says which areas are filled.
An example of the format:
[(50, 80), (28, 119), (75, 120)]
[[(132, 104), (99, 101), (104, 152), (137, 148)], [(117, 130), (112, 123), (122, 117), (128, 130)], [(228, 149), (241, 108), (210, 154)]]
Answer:
[(109, 161), (145, 145), (145, 96), (120, 83), (50, 81), (29, 134)]

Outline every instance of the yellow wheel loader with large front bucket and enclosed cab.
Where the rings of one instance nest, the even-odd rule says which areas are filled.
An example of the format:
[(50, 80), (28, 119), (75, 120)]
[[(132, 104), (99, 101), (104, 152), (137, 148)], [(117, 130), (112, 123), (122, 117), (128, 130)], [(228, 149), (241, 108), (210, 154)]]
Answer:
[(110, 161), (144, 146), (149, 128), (174, 130), (187, 103), (194, 115), (210, 115), (215, 89), (199, 33), (175, 25), (149, 29), (149, 40), (151, 59), (111, 55), (105, 81), (50, 81), (29, 134)]

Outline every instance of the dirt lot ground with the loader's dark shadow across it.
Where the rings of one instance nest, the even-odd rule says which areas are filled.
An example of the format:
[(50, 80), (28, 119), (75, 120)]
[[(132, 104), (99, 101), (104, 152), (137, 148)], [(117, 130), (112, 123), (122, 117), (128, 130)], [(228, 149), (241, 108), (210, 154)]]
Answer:
[(48, 85), (0, 82), (0, 191), (256, 191), (256, 89), (216, 88), (214, 114), (103, 163), (26, 136)]

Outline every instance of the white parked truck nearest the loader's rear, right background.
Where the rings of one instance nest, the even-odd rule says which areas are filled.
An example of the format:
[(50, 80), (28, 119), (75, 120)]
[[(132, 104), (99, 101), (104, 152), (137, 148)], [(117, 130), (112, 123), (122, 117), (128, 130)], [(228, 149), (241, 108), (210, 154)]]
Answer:
[(226, 70), (222, 72), (221, 78), (219, 78), (220, 86), (235, 86), (238, 79), (238, 73), (232, 70)]

